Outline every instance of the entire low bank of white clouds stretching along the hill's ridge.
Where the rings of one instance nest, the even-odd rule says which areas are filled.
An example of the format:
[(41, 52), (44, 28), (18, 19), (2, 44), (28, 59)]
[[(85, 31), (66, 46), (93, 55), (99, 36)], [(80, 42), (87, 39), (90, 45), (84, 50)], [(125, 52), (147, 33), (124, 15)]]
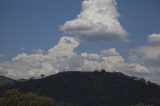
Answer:
[(96, 53), (77, 53), (80, 42), (74, 37), (63, 36), (48, 52), (37, 49), (31, 54), (21, 53), (10, 61), (0, 62), (0, 75), (10, 78), (39, 78), (63, 71), (119, 71), (144, 77), (160, 83), (160, 47), (146, 45), (131, 50), (125, 60), (115, 48)]

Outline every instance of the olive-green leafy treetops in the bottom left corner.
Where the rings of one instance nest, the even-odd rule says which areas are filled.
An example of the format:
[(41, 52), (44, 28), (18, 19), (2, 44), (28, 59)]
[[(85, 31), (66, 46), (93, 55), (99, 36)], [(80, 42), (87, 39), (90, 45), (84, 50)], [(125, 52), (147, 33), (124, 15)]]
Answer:
[(0, 97), (0, 106), (57, 106), (52, 98), (35, 93), (21, 94), (17, 89), (8, 90)]

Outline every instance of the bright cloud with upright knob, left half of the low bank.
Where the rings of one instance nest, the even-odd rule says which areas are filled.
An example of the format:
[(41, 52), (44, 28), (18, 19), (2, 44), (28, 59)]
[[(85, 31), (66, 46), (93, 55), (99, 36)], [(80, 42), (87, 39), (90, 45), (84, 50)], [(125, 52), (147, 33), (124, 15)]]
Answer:
[(71, 66), (70, 63), (75, 60), (73, 59), (76, 55), (74, 49), (78, 45), (79, 42), (74, 38), (64, 36), (46, 54), (38, 49), (36, 53), (21, 53), (11, 61), (0, 63), (0, 73), (19, 79), (39, 77), (41, 74), (51, 75), (67, 70)]

